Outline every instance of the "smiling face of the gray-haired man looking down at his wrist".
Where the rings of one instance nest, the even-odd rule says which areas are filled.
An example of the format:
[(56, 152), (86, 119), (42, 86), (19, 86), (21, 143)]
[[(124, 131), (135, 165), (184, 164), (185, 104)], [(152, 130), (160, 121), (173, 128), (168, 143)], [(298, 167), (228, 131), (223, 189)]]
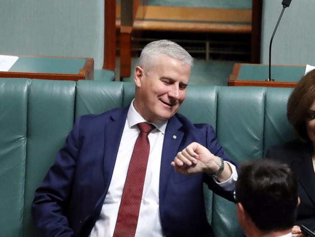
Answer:
[(135, 69), (134, 107), (148, 122), (170, 119), (186, 97), (190, 66), (159, 54), (150, 69)]

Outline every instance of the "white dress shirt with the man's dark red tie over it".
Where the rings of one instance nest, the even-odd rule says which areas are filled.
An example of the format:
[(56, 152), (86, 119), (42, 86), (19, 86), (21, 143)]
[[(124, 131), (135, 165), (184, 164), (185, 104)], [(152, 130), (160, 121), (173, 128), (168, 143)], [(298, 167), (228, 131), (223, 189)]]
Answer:
[[(131, 154), (136, 139), (140, 134), (140, 130), (137, 126), (140, 122), (146, 121), (135, 110), (132, 101), (128, 110), (109, 190), (106, 194), (99, 219), (95, 222), (90, 237), (113, 236)], [(148, 135), (150, 141), (150, 153), (144, 179), (136, 237), (163, 236), (159, 216), (158, 193), (161, 154), (167, 122), (168, 121), (163, 123), (153, 123), (156, 129)], [(237, 180), (236, 168), (232, 164), (230, 164), (230, 166), (233, 170), (232, 176), (228, 181), (219, 183), (219, 185), (225, 189), (234, 189)]]

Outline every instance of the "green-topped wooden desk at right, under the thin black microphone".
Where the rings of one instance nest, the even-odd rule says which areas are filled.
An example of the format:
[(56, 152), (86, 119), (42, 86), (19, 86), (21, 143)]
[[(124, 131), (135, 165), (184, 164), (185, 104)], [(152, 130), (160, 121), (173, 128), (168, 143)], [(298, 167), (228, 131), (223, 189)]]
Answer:
[(271, 65), (271, 77), (274, 82), (266, 82), (268, 65), (236, 63), (230, 75), (230, 86), (267, 86), (267, 87), (295, 87), (304, 75), (306, 66)]

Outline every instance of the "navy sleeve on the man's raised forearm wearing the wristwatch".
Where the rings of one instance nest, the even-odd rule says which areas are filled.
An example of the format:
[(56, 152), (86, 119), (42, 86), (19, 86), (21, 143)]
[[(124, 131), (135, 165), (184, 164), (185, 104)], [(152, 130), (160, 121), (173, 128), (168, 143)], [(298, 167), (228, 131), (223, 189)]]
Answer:
[[(206, 148), (213, 153), (216, 156), (221, 157), (224, 161), (228, 161), (231, 164), (236, 166), (237, 170), (237, 165), (235, 162), (233, 162), (230, 158), (228, 158), (226, 155), (224, 155), (224, 151), (222, 146), (218, 143), (218, 140), (215, 135), (215, 131), (212, 128), (212, 126), (207, 125), (206, 129)], [(207, 184), (209, 189), (211, 189), (213, 192), (218, 194), (219, 196), (231, 201), (235, 202), (234, 196), (233, 196), (233, 191), (226, 191), (224, 190), (221, 186), (219, 186), (211, 176), (204, 174), (204, 182)]]

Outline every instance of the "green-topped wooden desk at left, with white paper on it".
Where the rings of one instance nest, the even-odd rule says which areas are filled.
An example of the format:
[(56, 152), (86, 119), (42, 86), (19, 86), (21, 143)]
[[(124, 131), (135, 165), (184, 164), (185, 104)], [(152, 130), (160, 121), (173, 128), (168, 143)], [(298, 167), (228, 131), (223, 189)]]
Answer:
[(94, 59), (53, 56), (18, 56), (9, 71), (0, 71), (0, 78), (48, 80), (93, 80)]

